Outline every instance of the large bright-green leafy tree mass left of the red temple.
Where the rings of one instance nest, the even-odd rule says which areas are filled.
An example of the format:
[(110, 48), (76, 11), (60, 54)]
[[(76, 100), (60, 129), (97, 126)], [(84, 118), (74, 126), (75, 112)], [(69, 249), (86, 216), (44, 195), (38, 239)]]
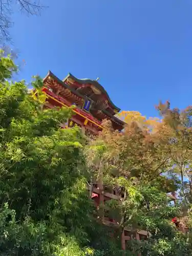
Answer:
[(77, 127), (59, 129), (70, 109), (42, 111), (39, 77), (36, 99), (25, 81), (8, 82), (16, 69), (1, 56), (1, 255), (84, 255), (92, 225), (84, 140)]

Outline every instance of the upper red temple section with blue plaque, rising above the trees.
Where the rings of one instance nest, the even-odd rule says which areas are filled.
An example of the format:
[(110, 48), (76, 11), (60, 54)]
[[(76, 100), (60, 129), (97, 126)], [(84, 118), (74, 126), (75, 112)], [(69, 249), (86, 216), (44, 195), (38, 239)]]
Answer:
[(84, 133), (97, 135), (102, 130), (102, 121), (108, 119), (114, 130), (123, 129), (124, 122), (115, 116), (120, 109), (96, 80), (78, 79), (68, 74), (61, 81), (49, 71), (44, 78), (42, 91), (47, 95), (47, 108), (75, 106), (74, 115), (66, 124), (62, 124), (63, 127), (76, 124)]

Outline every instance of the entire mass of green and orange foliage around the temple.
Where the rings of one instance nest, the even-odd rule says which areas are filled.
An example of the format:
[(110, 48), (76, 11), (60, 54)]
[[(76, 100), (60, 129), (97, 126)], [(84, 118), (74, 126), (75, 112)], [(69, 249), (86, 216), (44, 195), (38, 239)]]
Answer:
[[(127, 125), (122, 133), (110, 130), (109, 125), (88, 144), (78, 127), (60, 129), (59, 124), (72, 115), (71, 109), (42, 110), (46, 96), (41, 93), (43, 83), (38, 76), (32, 81), (37, 97), (28, 93), (25, 81), (7, 80), (16, 70), (11, 56), (2, 54), (0, 254), (190, 255), (191, 187), (175, 175), (176, 171), (190, 174), (190, 164), (185, 166), (191, 156), (190, 131), (186, 135), (177, 127), (177, 132), (170, 132), (166, 116), (158, 125), (153, 122), (156, 130), (160, 125), (158, 134), (148, 126), (141, 131), (136, 123)], [(183, 126), (189, 126), (189, 121), (183, 121)], [(183, 142), (182, 134), (188, 136), (183, 146), (177, 144), (181, 139)], [(171, 138), (177, 138), (176, 143), (170, 143)], [(188, 158), (179, 168), (183, 148)], [(177, 155), (175, 172), (170, 171), (175, 163), (170, 152)], [(118, 189), (122, 198), (100, 205), (97, 211), (87, 185), (90, 180), (97, 184), (101, 179), (104, 186)], [(170, 203), (166, 193), (178, 187), (183, 193), (180, 201)], [(94, 218), (103, 212), (108, 212), (118, 225), (106, 227)], [(184, 213), (188, 234), (179, 232), (171, 222)], [(122, 251), (124, 227), (131, 232), (146, 230), (147, 243), (132, 238), (127, 250)]]

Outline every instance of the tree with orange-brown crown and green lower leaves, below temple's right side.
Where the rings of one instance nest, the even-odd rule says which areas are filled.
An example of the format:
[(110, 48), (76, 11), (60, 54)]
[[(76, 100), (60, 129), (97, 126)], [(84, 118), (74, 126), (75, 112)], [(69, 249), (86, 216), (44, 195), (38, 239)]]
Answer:
[[(153, 133), (148, 126), (130, 122), (121, 133), (110, 129), (109, 122), (98, 139), (88, 148), (88, 163), (92, 180), (103, 186), (119, 190), (121, 202), (111, 200), (104, 210), (119, 224), (121, 233), (125, 226), (132, 231), (148, 232), (147, 243), (127, 243), (128, 249), (142, 255), (180, 255), (191, 253), (187, 236), (178, 232), (171, 223), (181, 216), (179, 205), (170, 204), (167, 193), (178, 188), (177, 177), (165, 175), (170, 168), (169, 144), (166, 132)], [(158, 126), (163, 128), (163, 123)], [(188, 241), (188, 242), (187, 242)], [(147, 254), (150, 253), (150, 254)], [(183, 254), (183, 255), (184, 255)]]

